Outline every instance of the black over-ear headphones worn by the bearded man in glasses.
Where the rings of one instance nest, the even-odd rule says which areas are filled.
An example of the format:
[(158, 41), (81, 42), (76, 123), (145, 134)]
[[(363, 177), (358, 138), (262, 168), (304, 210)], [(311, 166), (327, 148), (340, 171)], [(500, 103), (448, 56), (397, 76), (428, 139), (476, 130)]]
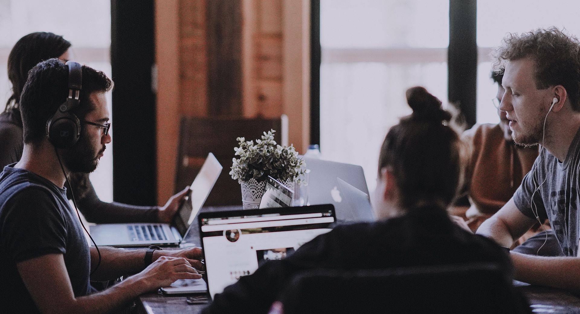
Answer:
[(82, 66), (74, 61), (68, 65), (68, 97), (46, 122), (46, 137), (56, 148), (70, 148), (81, 137), (81, 122), (71, 111), (79, 104), (82, 87)]

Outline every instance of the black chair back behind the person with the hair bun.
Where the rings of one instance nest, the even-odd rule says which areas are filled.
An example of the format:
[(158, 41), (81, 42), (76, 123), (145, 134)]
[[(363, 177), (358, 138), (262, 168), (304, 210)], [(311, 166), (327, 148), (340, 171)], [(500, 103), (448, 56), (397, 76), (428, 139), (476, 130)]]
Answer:
[(281, 301), (285, 314), (531, 313), (512, 280), (489, 263), (316, 269), (294, 276)]

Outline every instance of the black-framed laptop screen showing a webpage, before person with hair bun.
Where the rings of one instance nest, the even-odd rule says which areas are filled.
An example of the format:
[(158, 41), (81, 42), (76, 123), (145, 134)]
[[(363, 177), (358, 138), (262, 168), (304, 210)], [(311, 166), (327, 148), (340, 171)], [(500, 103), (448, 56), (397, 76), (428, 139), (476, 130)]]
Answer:
[(267, 260), (280, 260), (331, 231), (332, 205), (200, 213), (209, 294), (213, 298)]

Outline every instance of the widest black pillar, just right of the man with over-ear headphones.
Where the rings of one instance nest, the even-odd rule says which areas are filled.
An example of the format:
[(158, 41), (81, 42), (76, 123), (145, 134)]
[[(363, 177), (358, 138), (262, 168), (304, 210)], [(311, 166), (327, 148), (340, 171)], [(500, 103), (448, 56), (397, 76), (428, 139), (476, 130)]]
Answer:
[[(111, 0), (113, 199), (157, 203), (154, 0)], [(176, 122), (177, 123), (177, 122)]]

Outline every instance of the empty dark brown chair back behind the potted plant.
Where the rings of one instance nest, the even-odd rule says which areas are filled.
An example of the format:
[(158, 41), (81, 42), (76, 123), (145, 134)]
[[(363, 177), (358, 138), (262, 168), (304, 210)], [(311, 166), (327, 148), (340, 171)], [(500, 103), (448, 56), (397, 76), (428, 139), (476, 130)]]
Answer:
[(179, 150), (177, 152), (177, 171), (175, 192), (191, 184), (197, 176), (209, 152), (216, 156), (223, 170), (212, 192), (205, 201), (206, 206), (240, 205), (242, 193), (240, 184), (230, 176), (236, 138), (245, 137), (247, 141), (260, 139), (263, 132), (276, 130), (274, 140), (288, 145), (288, 118), (282, 115), (276, 119), (231, 118), (231, 117), (183, 117), (180, 124)]

